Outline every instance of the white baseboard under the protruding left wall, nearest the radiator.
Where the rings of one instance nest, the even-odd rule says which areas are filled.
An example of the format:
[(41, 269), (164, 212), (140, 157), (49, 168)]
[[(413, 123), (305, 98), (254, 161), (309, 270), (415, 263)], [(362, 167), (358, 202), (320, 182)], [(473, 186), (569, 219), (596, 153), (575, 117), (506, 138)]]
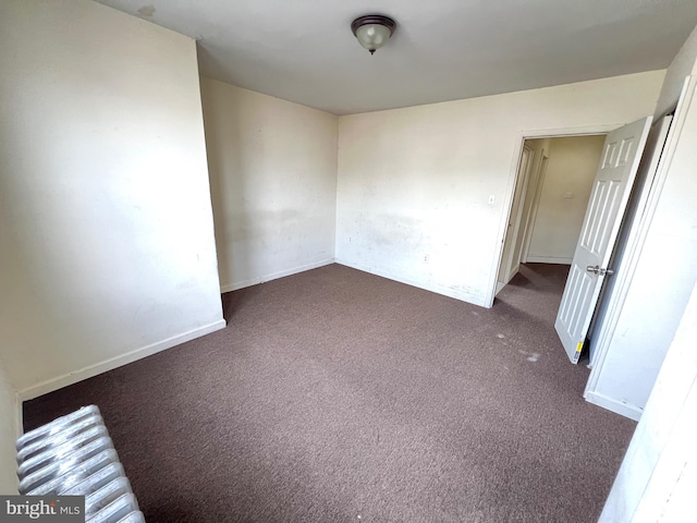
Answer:
[(73, 373), (48, 379), (46, 381), (21, 390), (19, 393), (20, 400), (30, 400), (48, 392), (61, 389), (63, 387), (68, 387), (69, 385), (76, 384), (77, 381), (82, 381), (83, 379), (91, 378), (93, 376), (97, 376), (98, 374), (106, 373), (107, 370), (112, 370), (117, 367), (121, 367), (137, 360), (142, 360), (146, 356), (164, 351), (174, 345), (179, 345), (186, 341), (200, 338), (201, 336), (209, 335), (220, 329), (224, 329), (225, 325), (227, 324), (224, 319), (219, 319), (218, 321), (213, 321), (212, 324), (189, 330), (188, 332), (173, 336), (171, 338), (168, 338), (167, 340), (151, 343), (140, 349), (136, 349), (135, 351), (120, 354), (115, 357), (105, 360), (103, 362), (99, 362), (94, 365), (88, 365)]

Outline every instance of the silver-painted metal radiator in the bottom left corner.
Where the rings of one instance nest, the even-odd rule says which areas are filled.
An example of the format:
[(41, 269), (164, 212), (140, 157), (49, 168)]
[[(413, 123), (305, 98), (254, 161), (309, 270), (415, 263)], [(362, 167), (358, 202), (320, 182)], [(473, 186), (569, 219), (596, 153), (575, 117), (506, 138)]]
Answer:
[(17, 439), (20, 494), (85, 496), (88, 523), (145, 522), (95, 405)]

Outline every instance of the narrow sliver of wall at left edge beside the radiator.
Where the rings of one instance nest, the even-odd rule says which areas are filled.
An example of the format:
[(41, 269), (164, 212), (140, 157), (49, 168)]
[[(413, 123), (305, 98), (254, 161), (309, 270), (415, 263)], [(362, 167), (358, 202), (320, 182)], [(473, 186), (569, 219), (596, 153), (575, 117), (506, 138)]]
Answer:
[(19, 434), (19, 403), (0, 361), (0, 494), (17, 494), (14, 441)]

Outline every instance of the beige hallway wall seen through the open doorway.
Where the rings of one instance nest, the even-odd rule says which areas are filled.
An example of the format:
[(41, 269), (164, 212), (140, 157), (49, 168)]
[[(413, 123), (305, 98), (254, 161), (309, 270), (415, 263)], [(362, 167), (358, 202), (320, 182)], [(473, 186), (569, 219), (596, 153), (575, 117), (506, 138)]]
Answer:
[(550, 141), (528, 262), (571, 264), (604, 138), (570, 136)]

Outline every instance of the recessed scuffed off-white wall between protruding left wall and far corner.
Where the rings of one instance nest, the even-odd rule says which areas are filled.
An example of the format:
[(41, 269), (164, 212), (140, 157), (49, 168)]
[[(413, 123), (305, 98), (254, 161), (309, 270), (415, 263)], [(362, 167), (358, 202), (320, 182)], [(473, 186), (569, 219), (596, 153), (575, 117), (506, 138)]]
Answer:
[(223, 291), (334, 259), (338, 118), (201, 78)]

